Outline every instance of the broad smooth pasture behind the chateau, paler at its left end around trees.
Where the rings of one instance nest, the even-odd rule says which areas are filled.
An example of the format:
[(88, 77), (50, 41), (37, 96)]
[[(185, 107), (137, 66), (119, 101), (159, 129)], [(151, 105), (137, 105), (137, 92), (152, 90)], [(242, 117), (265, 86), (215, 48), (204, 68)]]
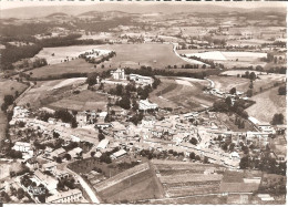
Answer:
[[(103, 45), (81, 45), (81, 46), (60, 46), (45, 48), (37, 54), (38, 58), (45, 58), (48, 63), (58, 64), (68, 56), (70, 60), (76, 58), (83, 51), (97, 49), (115, 51), (116, 56), (104, 62), (105, 68), (130, 66), (140, 68), (141, 65), (163, 69), (167, 65), (186, 64), (185, 61), (176, 56), (172, 44), (145, 43), (145, 44), (103, 44)], [(52, 54), (54, 53), (54, 56)], [(102, 65), (102, 63), (101, 63)], [(79, 70), (80, 72), (81, 70)]]

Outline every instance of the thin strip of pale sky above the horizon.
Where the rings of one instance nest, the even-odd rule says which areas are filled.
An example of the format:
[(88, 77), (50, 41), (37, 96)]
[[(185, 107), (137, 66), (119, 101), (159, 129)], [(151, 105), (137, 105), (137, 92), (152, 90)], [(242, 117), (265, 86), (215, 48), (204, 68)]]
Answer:
[[(111, 1), (105, 1), (110, 2)], [(89, 6), (89, 4), (96, 4), (96, 3), (105, 3), (100, 2), (99, 0), (0, 0), (0, 9), (12, 9), (12, 8), (23, 8), (23, 7), (39, 7), (39, 6)], [(164, 3), (164, 2), (135, 2), (138, 4), (151, 4), (151, 3)], [(131, 1), (122, 1), (122, 2), (113, 2), (113, 3), (132, 3)], [(182, 2), (165, 2), (165, 3), (182, 3)], [(237, 8), (259, 8), (259, 7), (285, 7), (287, 2), (275, 2), (275, 1), (258, 1), (258, 2), (185, 2), (185, 3), (209, 3), (209, 4), (217, 4), (217, 6), (225, 6), (225, 7), (237, 7)]]

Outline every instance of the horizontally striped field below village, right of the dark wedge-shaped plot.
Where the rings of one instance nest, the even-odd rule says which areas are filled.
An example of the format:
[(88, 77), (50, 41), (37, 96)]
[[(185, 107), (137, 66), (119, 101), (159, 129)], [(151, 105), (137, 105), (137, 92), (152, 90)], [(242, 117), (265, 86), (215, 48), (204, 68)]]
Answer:
[[(166, 197), (210, 194), (219, 190), (224, 168), (216, 165), (152, 159)], [(220, 174), (205, 174), (205, 172)]]

